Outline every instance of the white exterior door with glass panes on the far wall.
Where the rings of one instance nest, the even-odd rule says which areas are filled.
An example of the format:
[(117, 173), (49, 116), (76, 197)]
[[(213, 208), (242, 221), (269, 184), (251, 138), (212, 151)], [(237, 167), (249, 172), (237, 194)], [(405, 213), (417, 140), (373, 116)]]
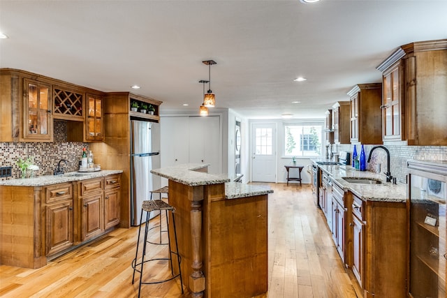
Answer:
[(276, 181), (276, 126), (253, 124), (251, 126), (251, 181)]

